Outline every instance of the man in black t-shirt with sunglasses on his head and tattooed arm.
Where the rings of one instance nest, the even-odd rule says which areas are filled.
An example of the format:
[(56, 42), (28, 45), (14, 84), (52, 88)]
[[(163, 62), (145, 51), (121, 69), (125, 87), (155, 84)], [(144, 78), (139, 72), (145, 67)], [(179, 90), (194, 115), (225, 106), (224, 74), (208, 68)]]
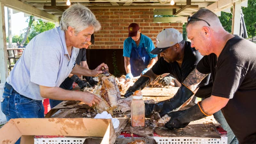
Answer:
[(182, 128), (221, 109), (240, 144), (256, 143), (256, 44), (229, 34), (207, 9), (189, 16), (186, 28), (191, 46), (205, 56), (183, 84), (193, 92), (211, 73), (212, 94), (189, 109), (169, 113), (165, 126)]

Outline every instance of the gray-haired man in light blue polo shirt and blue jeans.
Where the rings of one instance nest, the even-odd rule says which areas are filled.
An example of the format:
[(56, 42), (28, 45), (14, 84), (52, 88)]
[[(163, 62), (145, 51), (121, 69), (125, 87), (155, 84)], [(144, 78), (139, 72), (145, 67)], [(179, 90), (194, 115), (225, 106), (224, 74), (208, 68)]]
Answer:
[[(60, 84), (70, 73), (97, 76), (104, 63), (90, 70), (76, 64), (79, 49), (91, 41), (100, 23), (83, 5), (73, 5), (62, 15), (60, 27), (35, 36), (26, 46), (4, 86), (1, 108), (11, 118), (42, 118), (42, 100), (80, 100), (89, 106), (100, 99), (90, 92), (64, 90)], [(18, 143), (18, 142), (17, 142)]]

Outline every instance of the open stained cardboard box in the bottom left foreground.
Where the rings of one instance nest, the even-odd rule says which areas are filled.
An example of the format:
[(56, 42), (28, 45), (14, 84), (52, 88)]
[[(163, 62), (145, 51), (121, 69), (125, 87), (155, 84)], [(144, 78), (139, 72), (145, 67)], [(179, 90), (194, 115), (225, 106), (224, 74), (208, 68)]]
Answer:
[(103, 137), (101, 144), (115, 142), (111, 119), (93, 118), (16, 118), (0, 129), (0, 143), (34, 144), (35, 135)]

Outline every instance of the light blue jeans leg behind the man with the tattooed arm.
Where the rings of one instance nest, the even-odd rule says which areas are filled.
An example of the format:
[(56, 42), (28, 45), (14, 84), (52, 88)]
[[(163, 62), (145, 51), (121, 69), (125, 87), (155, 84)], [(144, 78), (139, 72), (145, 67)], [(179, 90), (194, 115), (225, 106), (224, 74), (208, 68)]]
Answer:
[(217, 111), (213, 114), (214, 118), (217, 122), (221, 124), (221, 127), (228, 132), (228, 144), (238, 144), (238, 140), (236, 139), (235, 134), (229, 127), (225, 117), (223, 116), (221, 110)]

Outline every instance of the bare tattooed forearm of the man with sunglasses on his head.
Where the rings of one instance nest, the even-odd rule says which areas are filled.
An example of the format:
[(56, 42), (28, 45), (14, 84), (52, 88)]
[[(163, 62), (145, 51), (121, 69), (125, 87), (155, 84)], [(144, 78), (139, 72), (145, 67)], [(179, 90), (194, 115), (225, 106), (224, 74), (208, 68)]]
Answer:
[(196, 86), (207, 76), (208, 74), (200, 73), (196, 68), (186, 77), (183, 84), (190, 90), (195, 91)]

